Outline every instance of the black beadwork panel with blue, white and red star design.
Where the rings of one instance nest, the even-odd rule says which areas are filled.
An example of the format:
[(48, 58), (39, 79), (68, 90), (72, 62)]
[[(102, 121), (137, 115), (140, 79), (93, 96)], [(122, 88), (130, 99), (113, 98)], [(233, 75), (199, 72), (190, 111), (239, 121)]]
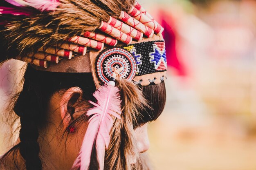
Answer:
[(140, 42), (122, 47), (134, 56), (137, 64), (137, 76), (167, 70), (164, 40)]

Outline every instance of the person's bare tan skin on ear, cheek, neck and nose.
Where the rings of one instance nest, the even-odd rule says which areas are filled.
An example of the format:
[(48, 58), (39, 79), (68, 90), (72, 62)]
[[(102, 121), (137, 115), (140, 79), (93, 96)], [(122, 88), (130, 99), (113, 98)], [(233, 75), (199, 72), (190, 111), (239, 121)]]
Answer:
[[(38, 141), (41, 151), (40, 157), (44, 162), (43, 167), (47, 165), (45, 167), (46, 169), (70, 170), (74, 160), (76, 159), (76, 156), (79, 153), (79, 149), (83, 141), (83, 136), (87, 129), (87, 124), (84, 123), (79, 125), (79, 128), (76, 128), (76, 131), (73, 134), (67, 134), (63, 137), (66, 128), (72, 123), (72, 121), (78, 118), (81, 114), (84, 114), (85, 108), (89, 108), (88, 103), (84, 101), (82, 97), (79, 97), (77, 102), (72, 105), (75, 110), (74, 113), (72, 115), (68, 113), (69, 101), (72, 99), (72, 96), (74, 96), (75, 93), (82, 94), (82, 91), (79, 87), (72, 87), (67, 91), (54, 93), (49, 101), (48, 121), (50, 123), (47, 124), (45, 129), (40, 130), (40, 134), (45, 135), (39, 138)], [(140, 153), (146, 152), (149, 148), (147, 124), (135, 130), (135, 137), (137, 139), (138, 151)], [(63, 140), (63, 138), (67, 140)], [(24, 161), (21, 159), (20, 155), (18, 155), (18, 157), (20, 158), (19, 164), (22, 165)], [(10, 165), (12, 164), (13, 163), (10, 163)], [(24, 167), (20, 167), (20, 169), (22, 170)], [(0, 168), (0, 170), (7, 169)]]

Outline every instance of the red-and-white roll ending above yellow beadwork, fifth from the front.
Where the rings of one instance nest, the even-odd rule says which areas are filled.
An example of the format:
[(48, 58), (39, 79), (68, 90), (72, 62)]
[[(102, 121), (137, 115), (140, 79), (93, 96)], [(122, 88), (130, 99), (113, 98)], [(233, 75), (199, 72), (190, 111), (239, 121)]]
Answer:
[(107, 22), (101, 21), (99, 29), (104, 33), (107, 33), (108, 35), (116, 38), (117, 40), (124, 42), (125, 44), (130, 44), (132, 42), (132, 37), (130, 35), (127, 35), (126, 33), (119, 31)]

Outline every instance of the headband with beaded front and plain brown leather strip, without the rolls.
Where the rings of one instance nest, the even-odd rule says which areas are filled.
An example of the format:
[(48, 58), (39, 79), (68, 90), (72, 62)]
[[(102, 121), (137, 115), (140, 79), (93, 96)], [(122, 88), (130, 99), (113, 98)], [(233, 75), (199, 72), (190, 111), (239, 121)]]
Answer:
[(159, 84), (166, 79), (166, 51), (162, 36), (154, 35), (139, 42), (103, 51), (90, 50), (85, 55), (72, 57), (72, 60), (51, 63), (48, 68), (35, 66), (41, 71), (64, 73), (92, 73), (97, 87), (108, 84), (113, 69), (120, 70), (122, 78), (132, 80), (140, 86)]

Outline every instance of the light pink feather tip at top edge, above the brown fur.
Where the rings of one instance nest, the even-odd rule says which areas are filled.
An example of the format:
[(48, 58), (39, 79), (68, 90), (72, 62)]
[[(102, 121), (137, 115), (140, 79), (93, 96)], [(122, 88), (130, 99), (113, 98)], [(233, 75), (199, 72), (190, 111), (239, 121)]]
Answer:
[(58, 0), (26, 0), (26, 2), (29, 3), (29, 6), (40, 11), (52, 11), (59, 5)]

